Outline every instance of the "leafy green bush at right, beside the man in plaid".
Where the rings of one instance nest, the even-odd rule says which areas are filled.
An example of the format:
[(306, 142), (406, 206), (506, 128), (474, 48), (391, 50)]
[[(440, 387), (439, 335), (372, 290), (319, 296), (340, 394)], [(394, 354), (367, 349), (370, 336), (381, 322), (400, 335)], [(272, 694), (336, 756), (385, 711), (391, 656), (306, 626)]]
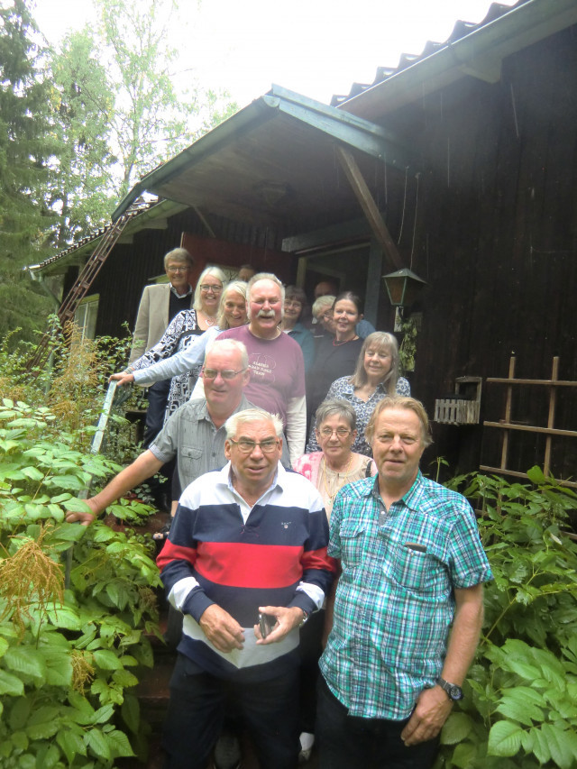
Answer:
[(577, 765), (577, 495), (529, 471), (534, 486), (474, 474), (453, 481), (480, 508), (494, 581), (465, 698), (445, 724), (437, 767)]

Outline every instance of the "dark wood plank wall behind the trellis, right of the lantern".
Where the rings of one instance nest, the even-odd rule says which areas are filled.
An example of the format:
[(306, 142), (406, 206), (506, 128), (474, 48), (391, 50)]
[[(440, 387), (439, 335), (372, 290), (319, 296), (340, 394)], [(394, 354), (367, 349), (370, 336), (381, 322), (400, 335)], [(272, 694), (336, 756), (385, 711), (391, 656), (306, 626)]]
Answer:
[[(415, 246), (405, 259), (428, 280), (413, 389), (429, 413), (455, 377), (577, 380), (577, 34), (517, 53), (494, 85), (468, 78), (389, 121), (422, 152)], [(414, 207), (414, 200), (412, 203)], [(412, 234), (412, 233), (411, 233)], [(558, 394), (555, 426), (577, 429), (577, 393)], [(504, 415), (505, 389), (485, 386), (482, 417)], [(515, 389), (513, 418), (545, 426), (544, 389)], [(514, 436), (509, 466), (543, 460), (545, 438)], [(435, 426), (453, 470), (499, 463), (499, 431)], [(554, 471), (577, 475), (577, 441), (556, 439)]]

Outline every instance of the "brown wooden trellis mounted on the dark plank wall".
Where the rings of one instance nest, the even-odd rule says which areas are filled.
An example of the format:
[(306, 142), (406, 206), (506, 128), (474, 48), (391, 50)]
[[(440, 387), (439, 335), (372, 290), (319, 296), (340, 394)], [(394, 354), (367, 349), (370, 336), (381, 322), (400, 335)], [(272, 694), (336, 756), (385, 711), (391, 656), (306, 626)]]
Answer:
[[(503, 445), (501, 448), (501, 462), (499, 467), (489, 467), (481, 464), (482, 471), (499, 472), (504, 475), (514, 475), (517, 478), (527, 478), (527, 473), (517, 472), (509, 470), (507, 467), (508, 462), (508, 444), (509, 436), (512, 430), (520, 430), (527, 433), (533, 433), (535, 435), (546, 435), (545, 438), (545, 457), (543, 461), (543, 471), (545, 475), (549, 475), (551, 471), (551, 445), (554, 436), (562, 436), (568, 438), (577, 438), (577, 432), (574, 430), (560, 430), (554, 427), (555, 406), (557, 398), (557, 390), (559, 388), (577, 387), (577, 382), (560, 380), (559, 379), (559, 358), (553, 359), (553, 371), (551, 373), (550, 380), (517, 380), (515, 379), (515, 356), (511, 355), (508, 364), (508, 378), (500, 379), (499, 377), (488, 377), (487, 382), (494, 382), (496, 384), (507, 385), (507, 400), (505, 403), (505, 417), (499, 422), (483, 422), (483, 426), (486, 427), (498, 427), (503, 430)], [(517, 385), (523, 386), (545, 386), (549, 390), (549, 416), (547, 418), (546, 427), (537, 427), (531, 425), (517, 425), (511, 422), (511, 407), (513, 402), (513, 388)], [(559, 481), (563, 486), (571, 486), (573, 489), (577, 489), (577, 482), (575, 481)]]

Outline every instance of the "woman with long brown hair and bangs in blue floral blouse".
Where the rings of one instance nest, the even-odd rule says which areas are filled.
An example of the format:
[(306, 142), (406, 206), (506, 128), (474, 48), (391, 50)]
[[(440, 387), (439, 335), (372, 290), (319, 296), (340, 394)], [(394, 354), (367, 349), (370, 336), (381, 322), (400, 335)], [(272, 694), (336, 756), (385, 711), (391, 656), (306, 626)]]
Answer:
[[(340, 398), (353, 406), (357, 415), (357, 435), (353, 452), (372, 456), (371, 446), (365, 441), (364, 428), (369, 423), (374, 407), (390, 395), (410, 395), (408, 380), (398, 376), (398, 344), (393, 334), (375, 331), (362, 344), (361, 353), (352, 377), (334, 380), (326, 399)], [(311, 426), (307, 453), (319, 451), (316, 424)]]

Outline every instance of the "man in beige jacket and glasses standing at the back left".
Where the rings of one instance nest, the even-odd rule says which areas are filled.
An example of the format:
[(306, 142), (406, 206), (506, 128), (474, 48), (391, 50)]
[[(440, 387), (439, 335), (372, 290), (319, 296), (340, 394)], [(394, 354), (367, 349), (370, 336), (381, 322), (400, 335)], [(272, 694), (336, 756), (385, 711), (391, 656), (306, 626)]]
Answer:
[[(169, 282), (146, 286), (142, 292), (127, 371), (132, 371), (130, 364), (160, 340), (174, 316), (192, 307), (193, 290), (190, 280), (193, 266), (194, 261), (184, 248), (174, 248), (165, 254), (164, 270)], [(142, 441), (144, 446), (150, 445), (160, 433), (169, 385), (170, 380), (163, 380), (153, 384), (148, 391), (149, 406)]]

